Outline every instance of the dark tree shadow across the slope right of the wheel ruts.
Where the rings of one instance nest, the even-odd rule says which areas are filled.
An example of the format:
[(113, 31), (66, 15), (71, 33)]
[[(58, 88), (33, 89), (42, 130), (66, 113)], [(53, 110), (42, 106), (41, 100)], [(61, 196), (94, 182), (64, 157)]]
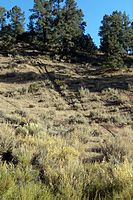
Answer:
[[(58, 76), (58, 74), (52, 76)], [(60, 77), (60, 78), (59, 78)], [(127, 90), (129, 84), (133, 85), (133, 76), (130, 75), (114, 75), (111, 77), (98, 78), (66, 78), (65, 75), (59, 74), (58, 80), (63, 80), (64, 84), (69, 90), (79, 91), (81, 87), (88, 89), (90, 92), (101, 92), (102, 90), (113, 88)]]

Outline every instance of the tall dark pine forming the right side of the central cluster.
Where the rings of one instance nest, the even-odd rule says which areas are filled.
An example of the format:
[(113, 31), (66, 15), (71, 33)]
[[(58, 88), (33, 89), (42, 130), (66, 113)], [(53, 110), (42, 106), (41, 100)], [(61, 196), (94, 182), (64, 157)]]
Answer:
[(55, 20), (55, 33), (59, 51), (61, 54), (71, 54), (75, 51), (75, 38), (84, 32), (85, 23), (83, 12), (78, 9), (74, 0), (66, 0), (59, 10)]

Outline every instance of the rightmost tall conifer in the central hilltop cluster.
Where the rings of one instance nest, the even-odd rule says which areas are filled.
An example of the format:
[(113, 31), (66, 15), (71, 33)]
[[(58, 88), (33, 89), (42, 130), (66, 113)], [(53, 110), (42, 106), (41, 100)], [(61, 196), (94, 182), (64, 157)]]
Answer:
[(83, 34), (85, 23), (83, 21), (83, 12), (78, 9), (75, 0), (66, 0), (62, 12), (63, 23), (60, 35), (63, 52), (66, 54), (73, 51), (73, 49), (75, 50), (74, 40)]

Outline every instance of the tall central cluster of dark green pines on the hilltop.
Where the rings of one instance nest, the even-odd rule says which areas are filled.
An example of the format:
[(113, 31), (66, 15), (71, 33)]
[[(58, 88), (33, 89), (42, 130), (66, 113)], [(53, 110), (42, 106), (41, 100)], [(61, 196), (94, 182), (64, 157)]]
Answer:
[(33, 42), (65, 55), (75, 50), (75, 38), (82, 36), (85, 23), (74, 0), (35, 0), (31, 11), (28, 27)]

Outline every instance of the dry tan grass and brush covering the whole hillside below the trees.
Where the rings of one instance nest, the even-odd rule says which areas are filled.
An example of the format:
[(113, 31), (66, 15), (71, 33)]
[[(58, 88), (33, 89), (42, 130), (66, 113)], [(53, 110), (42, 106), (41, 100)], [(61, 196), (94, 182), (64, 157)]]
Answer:
[(1, 199), (132, 199), (132, 68), (0, 62)]

